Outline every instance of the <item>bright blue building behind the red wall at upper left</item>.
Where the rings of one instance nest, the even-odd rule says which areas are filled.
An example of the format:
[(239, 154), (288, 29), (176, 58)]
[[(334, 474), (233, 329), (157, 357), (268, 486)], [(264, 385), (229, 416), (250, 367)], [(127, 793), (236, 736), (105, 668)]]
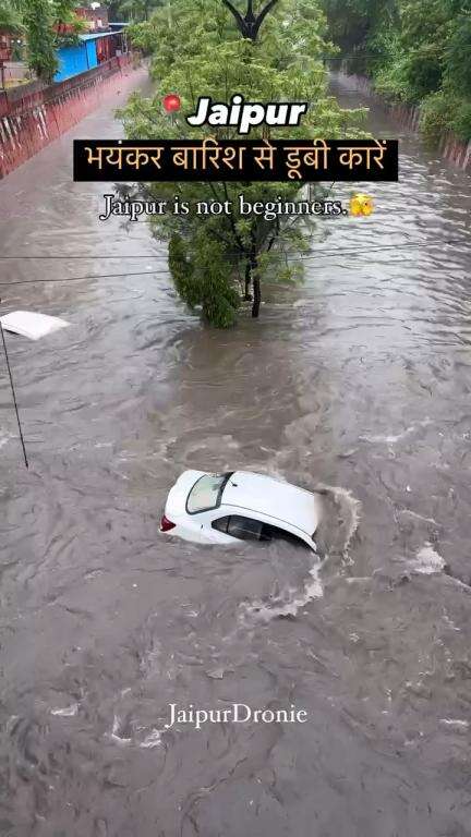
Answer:
[(55, 75), (55, 82), (63, 82), (72, 75), (93, 70), (94, 66), (123, 51), (122, 29), (78, 35), (77, 44), (59, 47), (57, 50), (59, 70)]

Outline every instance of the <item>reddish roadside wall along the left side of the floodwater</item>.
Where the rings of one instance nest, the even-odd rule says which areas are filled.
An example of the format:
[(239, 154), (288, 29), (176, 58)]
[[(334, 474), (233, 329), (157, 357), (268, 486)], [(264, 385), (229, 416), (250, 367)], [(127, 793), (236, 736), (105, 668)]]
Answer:
[(104, 99), (130, 89), (136, 73), (133, 57), (126, 53), (49, 87), (33, 82), (0, 93), (0, 179), (69, 131)]

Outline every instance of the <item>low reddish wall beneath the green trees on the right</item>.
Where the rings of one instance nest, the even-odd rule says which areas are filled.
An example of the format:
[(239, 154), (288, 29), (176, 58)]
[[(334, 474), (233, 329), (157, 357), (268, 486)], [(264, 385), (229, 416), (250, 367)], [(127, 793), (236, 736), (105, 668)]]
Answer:
[[(404, 128), (413, 133), (419, 132), (420, 107), (385, 102), (384, 98), (375, 93), (371, 81), (364, 75), (350, 75), (339, 72), (339, 77), (352, 89), (361, 90), (381, 102), (391, 117), (397, 120), (400, 128)], [(471, 140), (469, 143), (463, 143), (451, 131), (444, 131), (438, 147), (442, 157), (462, 171), (471, 173)]]

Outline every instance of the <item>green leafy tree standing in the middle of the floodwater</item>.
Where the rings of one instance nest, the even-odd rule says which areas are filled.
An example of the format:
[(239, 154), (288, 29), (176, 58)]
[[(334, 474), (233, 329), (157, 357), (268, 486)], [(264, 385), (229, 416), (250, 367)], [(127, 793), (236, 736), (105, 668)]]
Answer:
[[(252, 9), (252, 4), (249, 4)], [(258, 40), (241, 38), (220, 0), (173, 0), (171, 9), (157, 12), (142, 36), (154, 43), (154, 75), (159, 78), (153, 99), (131, 97), (124, 111), (128, 136), (133, 138), (231, 140), (234, 128), (191, 128), (184, 114), (195, 111), (200, 96), (229, 101), (234, 93), (247, 101), (309, 101), (299, 128), (267, 126), (252, 130), (253, 138), (309, 138), (358, 135), (359, 119), (342, 111), (327, 95), (325, 71), (317, 56), (324, 47), (324, 17), (313, 0), (277, 0), (270, 3), (278, 17), (264, 15)], [(267, 7), (264, 5), (265, 10)], [(232, 16), (233, 13), (231, 12)], [(255, 17), (255, 20), (257, 20)], [(148, 43), (147, 41), (147, 43)], [(169, 117), (162, 95), (174, 92), (182, 111)], [(305, 216), (273, 213), (245, 215), (245, 202), (295, 202), (299, 181), (283, 183), (180, 182), (144, 186), (146, 197), (167, 198), (169, 208), (177, 195), (185, 214), (168, 211), (152, 220), (155, 234), (170, 241), (170, 269), (176, 288), (192, 307), (201, 306), (214, 325), (227, 327), (235, 320), (242, 299), (252, 300), (258, 316), (261, 281), (295, 281), (299, 262), (289, 256), (307, 246)], [(203, 206), (218, 202), (231, 211), (202, 214)]]

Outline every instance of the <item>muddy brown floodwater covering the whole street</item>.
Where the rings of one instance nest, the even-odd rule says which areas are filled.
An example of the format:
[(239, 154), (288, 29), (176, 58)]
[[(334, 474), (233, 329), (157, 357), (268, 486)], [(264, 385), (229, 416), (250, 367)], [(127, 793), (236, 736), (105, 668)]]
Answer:
[[(400, 183), (210, 330), (145, 222), (71, 183), (72, 137), (119, 136), (120, 104), (0, 182), (2, 312), (72, 324), (7, 335), (29, 471), (1, 361), (0, 834), (470, 835), (471, 179), (375, 106)], [(318, 575), (159, 535), (186, 468), (328, 486)], [(309, 723), (165, 728), (232, 702)]]

